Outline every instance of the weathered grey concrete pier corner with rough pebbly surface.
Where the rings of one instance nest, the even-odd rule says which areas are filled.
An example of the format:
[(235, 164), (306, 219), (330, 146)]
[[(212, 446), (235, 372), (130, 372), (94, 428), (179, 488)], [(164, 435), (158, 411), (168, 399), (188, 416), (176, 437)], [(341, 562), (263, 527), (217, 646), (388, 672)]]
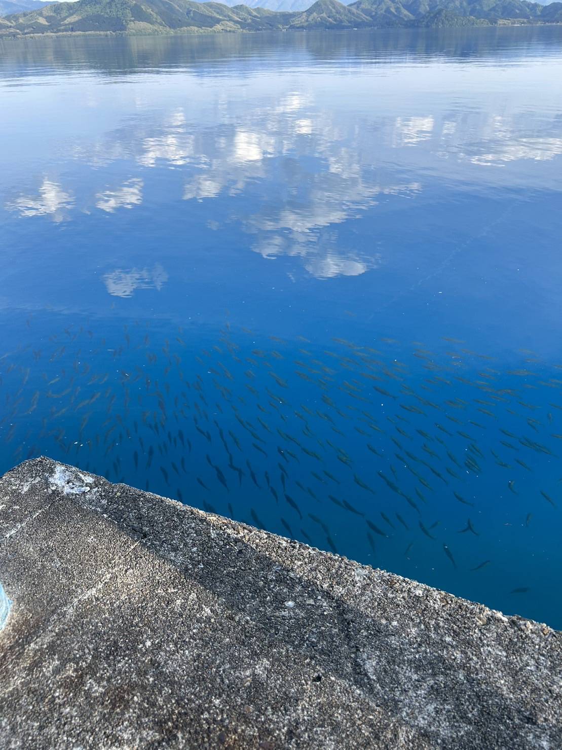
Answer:
[(562, 747), (545, 625), (45, 458), (0, 539), (2, 748)]

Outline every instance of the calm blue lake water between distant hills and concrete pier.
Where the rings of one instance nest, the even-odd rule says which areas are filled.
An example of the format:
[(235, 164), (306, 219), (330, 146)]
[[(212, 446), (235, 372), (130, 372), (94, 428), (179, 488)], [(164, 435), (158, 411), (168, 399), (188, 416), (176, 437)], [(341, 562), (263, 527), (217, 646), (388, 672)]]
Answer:
[(562, 29), (4, 42), (0, 102), (2, 471), (562, 627)]

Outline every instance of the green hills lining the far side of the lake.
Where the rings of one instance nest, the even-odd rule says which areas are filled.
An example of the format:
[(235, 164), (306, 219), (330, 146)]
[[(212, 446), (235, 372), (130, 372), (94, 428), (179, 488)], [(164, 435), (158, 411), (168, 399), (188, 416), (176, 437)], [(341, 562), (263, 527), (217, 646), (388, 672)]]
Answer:
[(544, 6), (525, 0), (357, 0), (351, 5), (342, 5), (338, 0), (318, 0), (307, 10), (294, 13), (191, 0), (79, 0), (14, 13), (0, 20), (0, 35), (431, 28), (561, 22), (562, 2)]

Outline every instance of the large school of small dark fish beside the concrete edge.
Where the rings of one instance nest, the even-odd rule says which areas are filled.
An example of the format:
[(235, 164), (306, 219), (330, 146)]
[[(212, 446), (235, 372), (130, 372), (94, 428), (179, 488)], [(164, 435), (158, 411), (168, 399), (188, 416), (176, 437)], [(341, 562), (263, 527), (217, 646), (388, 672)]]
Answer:
[(67, 326), (40, 344), (0, 359), (4, 470), (49, 455), (375, 565), (429, 545), (474, 575), (502, 524), (559, 523), (562, 366), (532, 352), (505, 370), (454, 339), (439, 356), (381, 337), (326, 347), (228, 320), (206, 337)]

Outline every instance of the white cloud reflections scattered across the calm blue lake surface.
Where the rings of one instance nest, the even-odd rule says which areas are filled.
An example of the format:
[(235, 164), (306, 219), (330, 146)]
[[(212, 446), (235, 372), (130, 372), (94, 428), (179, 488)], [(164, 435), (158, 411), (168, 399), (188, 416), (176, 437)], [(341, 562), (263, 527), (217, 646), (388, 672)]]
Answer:
[[(83, 212), (91, 213), (91, 196), (106, 214), (139, 208), (147, 187), (157, 182), (153, 171), (173, 169), (179, 179), (166, 184), (169, 204), (196, 220), (196, 202), (211, 201), (208, 229), (235, 225), (254, 253), (299, 259), (306, 273), (321, 279), (361, 275), (384, 263), (384, 249), (353, 247), (344, 237), (351, 222), (367, 212), (375, 217), (381, 202), (417, 198), (435, 175), (486, 186), (494, 179), (488, 175), (500, 170), (485, 166), (562, 154), (554, 120), (537, 124), (527, 111), (498, 114), (489, 101), (480, 109), (447, 111), (435, 100), (423, 107), (416, 101), (411, 113), (400, 114), (372, 107), (359, 119), (345, 107), (326, 107), (318, 91), (313, 95), (288, 80), (285, 90), (276, 83), (251, 98), (217, 84), (193, 106), (169, 100), (163, 106), (138, 95), (134, 103), (116, 127), (91, 142), (76, 137), (70, 144), (75, 162), (100, 177), (97, 191), (79, 202)], [(121, 163), (126, 172), (115, 177)], [(474, 170), (469, 178), (468, 169)], [(111, 180), (104, 182), (105, 172)], [(244, 203), (235, 201), (240, 196)], [(6, 207), (19, 217), (48, 215), (61, 222), (72, 217), (76, 199), (60, 182), (43, 178), (36, 195), (20, 195)], [(148, 283), (145, 270), (114, 273), (123, 276), (109, 282), (112, 294), (130, 296)]]

